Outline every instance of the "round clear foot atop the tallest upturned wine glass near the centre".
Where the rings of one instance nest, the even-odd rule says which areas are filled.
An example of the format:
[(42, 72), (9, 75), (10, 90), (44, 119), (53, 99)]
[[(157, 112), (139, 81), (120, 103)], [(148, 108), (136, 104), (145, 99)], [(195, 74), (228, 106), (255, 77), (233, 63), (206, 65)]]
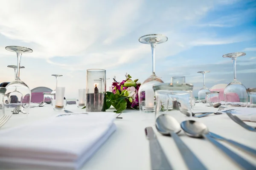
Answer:
[(168, 38), (162, 34), (148, 34), (140, 37), (139, 39), (139, 41), (143, 44), (151, 44), (151, 43), (160, 44), (160, 43), (166, 42), (167, 40)]

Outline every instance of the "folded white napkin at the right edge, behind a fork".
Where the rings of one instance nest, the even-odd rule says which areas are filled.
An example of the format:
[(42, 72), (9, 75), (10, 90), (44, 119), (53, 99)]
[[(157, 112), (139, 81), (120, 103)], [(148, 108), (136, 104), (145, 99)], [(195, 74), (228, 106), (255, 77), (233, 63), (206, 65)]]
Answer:
[(230, 112), (239, 117), (243, 121), (256, 122), (256, 108), (247, 108), (247, 107), (237, 107), (237, 108), (227, 108), (222, 112)]

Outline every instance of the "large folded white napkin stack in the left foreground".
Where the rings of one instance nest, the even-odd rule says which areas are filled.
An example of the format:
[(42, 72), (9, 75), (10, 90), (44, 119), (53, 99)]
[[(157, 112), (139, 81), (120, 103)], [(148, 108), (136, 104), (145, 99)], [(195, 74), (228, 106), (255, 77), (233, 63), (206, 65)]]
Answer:
[(0, 169), (79, 169), (116, 130), (114, 119), (71, 113), (0, 130)]

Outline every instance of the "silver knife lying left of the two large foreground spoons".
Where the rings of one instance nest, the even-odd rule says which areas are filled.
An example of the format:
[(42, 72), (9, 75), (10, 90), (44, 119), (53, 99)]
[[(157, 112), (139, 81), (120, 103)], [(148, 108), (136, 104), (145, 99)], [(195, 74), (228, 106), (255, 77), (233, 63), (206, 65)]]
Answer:
[(166, 158), (161, 145), (157, 140), (152, 127), (145, 128), (146, 137), (149, 140), (150, 159), (152, 170), (172, 170), (172, 166)]

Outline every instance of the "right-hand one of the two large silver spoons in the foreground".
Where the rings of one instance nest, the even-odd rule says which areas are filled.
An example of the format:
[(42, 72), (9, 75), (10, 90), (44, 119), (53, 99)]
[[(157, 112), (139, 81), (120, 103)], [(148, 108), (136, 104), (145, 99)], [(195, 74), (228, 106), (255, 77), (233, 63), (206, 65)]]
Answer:
[(232, 150), (228, 149), (221, 143), (217, 142), (215, 139), (211, 137), (209, 134), (209, 130), (206, 125), (204, 125), (201, 122), (197, 122), (194, 120), (186, 120), (184, 122), (181, 122), (181, 128), (184, 130), (186, 135), (190, 137), (195, 138), (201, 138), (204, 137), (209, 142), (214, 144), (216, 147), (218, 147), (220, 150), (222, 150), (227, 156), (229, 156), (235, 163), (237, 163), (240, 167), (244, 168), (245, 170), (255, 170), (256, 167), (248, 162), (247, 160), (243, 159), (238, 154), (234, 153)]

